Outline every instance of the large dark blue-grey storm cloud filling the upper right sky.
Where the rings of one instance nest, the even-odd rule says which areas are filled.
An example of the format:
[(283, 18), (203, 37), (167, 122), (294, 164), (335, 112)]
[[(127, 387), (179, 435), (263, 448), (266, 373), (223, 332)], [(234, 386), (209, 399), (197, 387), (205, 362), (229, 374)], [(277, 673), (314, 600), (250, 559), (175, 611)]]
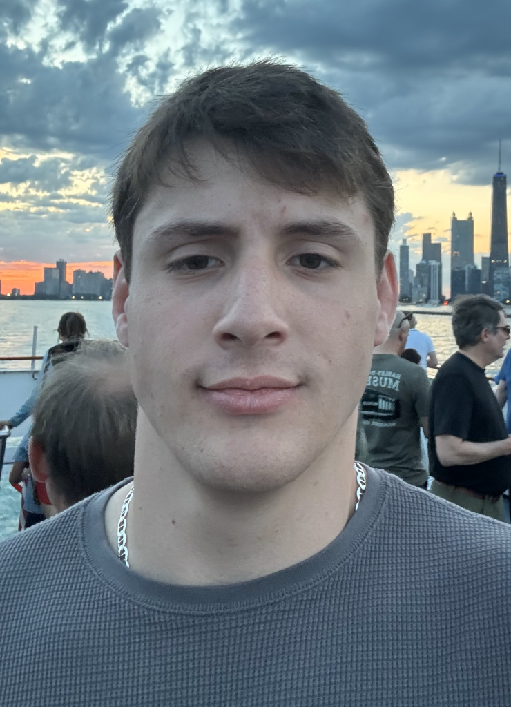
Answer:
[(510, 26), (508, 0), (243, 0), (233, 21), (247, 55), (297, 57), (341, 90), (389, 166), (471, 183), (488, 182), (499, 138), (511, 168)]

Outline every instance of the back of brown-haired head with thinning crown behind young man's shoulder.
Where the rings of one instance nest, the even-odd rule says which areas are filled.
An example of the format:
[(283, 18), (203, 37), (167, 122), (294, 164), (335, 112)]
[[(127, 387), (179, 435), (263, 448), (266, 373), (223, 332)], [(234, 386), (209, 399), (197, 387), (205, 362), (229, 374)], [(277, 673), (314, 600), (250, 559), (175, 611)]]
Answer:
[(57, 513), (133, 474), (136, 409), (118, 341), (83, 341), (48, 373), (29, 457)]

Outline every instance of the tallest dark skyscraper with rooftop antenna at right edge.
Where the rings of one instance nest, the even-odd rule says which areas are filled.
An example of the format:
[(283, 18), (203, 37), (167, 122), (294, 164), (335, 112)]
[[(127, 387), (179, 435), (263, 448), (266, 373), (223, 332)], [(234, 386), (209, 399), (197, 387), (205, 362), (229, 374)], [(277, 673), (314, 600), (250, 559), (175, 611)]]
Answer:
[(510, 299), (506, 189), (507, 177), (500, 168), (499, 142), (498, 170), (492, 180), (489, 285), (490, 294), (500, 302)]

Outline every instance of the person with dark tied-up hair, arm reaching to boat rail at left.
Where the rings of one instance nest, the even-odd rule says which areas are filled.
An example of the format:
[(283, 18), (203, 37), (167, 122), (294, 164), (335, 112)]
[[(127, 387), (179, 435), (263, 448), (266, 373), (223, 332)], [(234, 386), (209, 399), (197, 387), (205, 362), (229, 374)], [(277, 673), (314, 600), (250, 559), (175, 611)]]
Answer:
[[(45, 373), (47, 373), (47, 371), (49, 370), (49, 368), (51, 368), (54, 362), (58, 360), (59, 356), (75, 349), (76, 346), (78, 346), (78, 344), (80, 343), (80, 341), (82, 341), (83, 337), (85, 337), (87, 333), (87, 325), (85, 319), (83, 318), (83, 315), (81, 315), (80, 312), (66, 312), (65, 314), (63, 314), (59, 320), (57, 333), (59, 335), (61, 343), (57, 344), (56, 346), (52, 346), (50, 349), (48, 349), (48, 351), (46, 351), (45, 356), (43, 356), (41, 368), (37, 377), (37, 382), (33, 387), (32, 392), (30, 393), (30, 397), (25, 400), (18, 412), (16, 412), (16, 414), (14, 414), (10, 419), (0, 420), (0, 427), (8, 426), (9, 429), (13, 429), (14, 427), (17, 427), (22, 422), (24, 422), (33, 413), (35, 402), (37, 400), (37, 395), (39, 395), (40, 387)], [(18, 445), (16, 452), (14, 453), (14, 463), (11, 468), (11, 473), (9, 474), (9, 482), (12, 485), (19, 484), (20, 481), (22, 481), (23, 472), (25, 472), (25, 469), (27, 469), (28, 467), (29, 437), (30, 431), (25, 434), (20, 444)], [(26, 474), (25, 479), (23, 480), (26, 481)], [(42, 496), (42, 498), (40, 499), (42, 501), (41, 508), (46, 511), (46, 515), (52, 515), (52, 510), (50, 508), (45, 508), (46, 506), (48, 506), (48, 504), (45, 503), (47, 498), (44, 489), (38, 489), (36, 485), (36, 493), (37, 491), (40, 491), (40, 494)]]

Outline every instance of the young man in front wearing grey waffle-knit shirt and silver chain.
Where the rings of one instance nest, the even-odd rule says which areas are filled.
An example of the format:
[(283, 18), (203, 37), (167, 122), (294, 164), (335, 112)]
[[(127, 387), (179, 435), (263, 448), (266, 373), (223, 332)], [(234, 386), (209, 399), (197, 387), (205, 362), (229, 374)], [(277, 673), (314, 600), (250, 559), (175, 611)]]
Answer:
[(474, 552), (471, 514), (354, 466), (398, 294), (360, 117), (291, 66), (212, 69), (136, 136), (113, 214), (134, 485), (0, 546), (5, 703), (505, 704), (509, 529)]

